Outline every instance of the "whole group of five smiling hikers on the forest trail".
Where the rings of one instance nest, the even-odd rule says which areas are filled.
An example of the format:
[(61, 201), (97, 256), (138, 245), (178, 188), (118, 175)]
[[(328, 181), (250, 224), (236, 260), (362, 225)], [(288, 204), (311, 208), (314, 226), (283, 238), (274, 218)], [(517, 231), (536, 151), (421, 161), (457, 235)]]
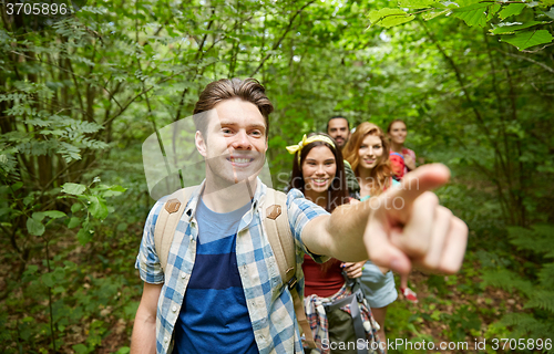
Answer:
[[(287, 194), (258, 175), (274, 107), (254, 79), (219, 80), (194, 108), (205, 179), (152, 208), (131, 353), (384, 353), (387, 305), (410, 269), (456, 272), (468, 228), (430, 190), (393, 121), (387, 135), (334, 117), (287, 147)], [(390, 143), (389, 143), (390, 140)]]

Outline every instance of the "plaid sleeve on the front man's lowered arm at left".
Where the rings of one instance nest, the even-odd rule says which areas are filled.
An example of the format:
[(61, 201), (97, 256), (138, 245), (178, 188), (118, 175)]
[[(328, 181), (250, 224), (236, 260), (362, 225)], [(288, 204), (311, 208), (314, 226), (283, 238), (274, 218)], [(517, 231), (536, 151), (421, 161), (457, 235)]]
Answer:
[(164, 271), (160, 263), (154, 243), (154, 229), (164, 201), (165, 199), (160, 199), (150, 210), (146, 223), (144, 225), (141, 248), (135, 262), (135, 268), (138, 269), (141, 279), (151, 284), (161, 284), (164, 282)]

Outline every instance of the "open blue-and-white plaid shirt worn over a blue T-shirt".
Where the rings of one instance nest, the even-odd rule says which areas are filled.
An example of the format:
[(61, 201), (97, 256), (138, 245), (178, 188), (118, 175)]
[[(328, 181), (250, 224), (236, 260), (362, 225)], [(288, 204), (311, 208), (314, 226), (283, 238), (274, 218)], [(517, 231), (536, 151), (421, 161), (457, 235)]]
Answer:
[[(155, 223), (166, 198), (160, 199), (154, 205), (144, 226), (135, 268), (138, 269), (143, 281), (153, 284), (163, 283), (156, 315), (156, 351), (161, 354), (173, 351), (173, 331), (196, 256), (198, 223), (195, 211), (205, 181), (193, 192), (178, 221), (167, 257), (166, 274), (162, 270), (154, 246)], [(260, 211), (266, 190), (267, 187), (258, 178), (252, 208), (242, 218), (237, 231), (237, 267), (259, 353), (302, 353), (293, 296), (288, 288), (284, 287), (261, 222)], [(305, 199), (298, 189), (291, 189), (287, 195), (287, 212), (296, 243), (297, 290), (302, 296), (304, 273), (300, 266), (304, 253), (310, 253), (301, 241), (301, 233), (308, 221), (328, 212)], [(317, 262), (328, 259), (310, 256)]]

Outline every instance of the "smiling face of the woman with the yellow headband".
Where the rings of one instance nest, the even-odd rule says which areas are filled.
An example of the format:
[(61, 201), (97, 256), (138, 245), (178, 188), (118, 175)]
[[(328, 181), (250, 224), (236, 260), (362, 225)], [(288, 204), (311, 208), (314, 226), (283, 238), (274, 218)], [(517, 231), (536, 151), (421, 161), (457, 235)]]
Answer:
[(306, 195), (326, 192), (336, 174), (337, 163), (332, 152), (324, 145), (314, 147), (302, 163)]

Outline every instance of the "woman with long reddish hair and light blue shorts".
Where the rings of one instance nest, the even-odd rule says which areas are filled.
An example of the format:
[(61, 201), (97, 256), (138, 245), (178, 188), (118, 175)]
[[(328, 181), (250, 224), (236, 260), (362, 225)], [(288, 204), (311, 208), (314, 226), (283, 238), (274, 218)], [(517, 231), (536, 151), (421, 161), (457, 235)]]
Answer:
[[(388, 140), (377, 125), (368, 122), (361, 123), (350, 136), (343, 152), (346, 160), (350, 163), (358, 177), (360, 194), (356, 197), (361, 201), (377, 197), (386, 189), (399, 184), (392, 178)], [(379, 323), (379, 339), (386, 342), (387, 306), (398, 298), (394, 277), (390, 270), (368, 261), (363, 267), (361, 288)]]

